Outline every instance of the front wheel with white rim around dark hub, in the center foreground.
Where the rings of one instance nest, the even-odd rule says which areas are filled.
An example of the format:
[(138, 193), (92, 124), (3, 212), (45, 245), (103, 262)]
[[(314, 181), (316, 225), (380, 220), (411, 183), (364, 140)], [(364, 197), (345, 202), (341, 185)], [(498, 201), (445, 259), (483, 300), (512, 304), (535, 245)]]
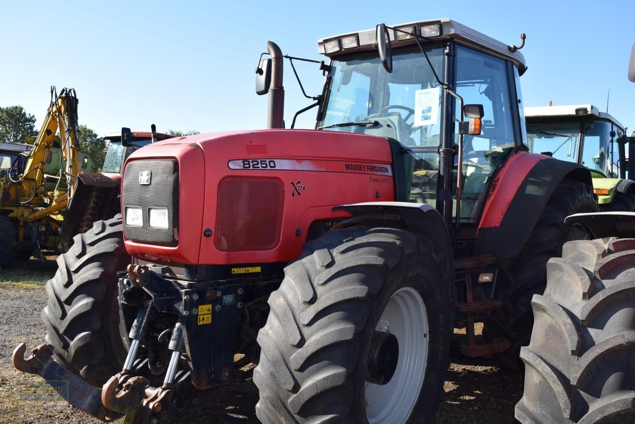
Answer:
[[(441, 244), (366, 227), (307, 243), (269, 297), (258, 333), (258, 419), (432, 421), (453, 331), (451, 258)], [(366, 381), (368, 351), (375, 329), (386, 326), (399, 360), (392, 379), (375, 385)]]

